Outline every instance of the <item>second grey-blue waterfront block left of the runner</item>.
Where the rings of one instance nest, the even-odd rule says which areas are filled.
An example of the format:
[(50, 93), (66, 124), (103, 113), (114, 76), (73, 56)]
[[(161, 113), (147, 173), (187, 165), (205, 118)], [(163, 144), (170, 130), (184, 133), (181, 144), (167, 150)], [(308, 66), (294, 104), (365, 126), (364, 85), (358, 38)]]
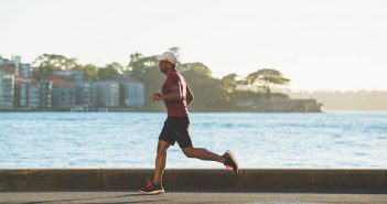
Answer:
[(118, 82), (97, 82), (97, 107), (119, 107)]

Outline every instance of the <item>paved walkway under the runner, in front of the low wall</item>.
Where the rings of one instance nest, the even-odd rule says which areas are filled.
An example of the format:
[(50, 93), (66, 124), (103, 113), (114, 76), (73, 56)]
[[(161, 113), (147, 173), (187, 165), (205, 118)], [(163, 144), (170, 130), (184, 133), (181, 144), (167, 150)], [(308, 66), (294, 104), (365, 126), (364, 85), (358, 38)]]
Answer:
[(237, 203), (237, 204), (311, 204), (373, 203), (386, 204), (387, 194), (334, 193), (190, 193), (168, 192), (141, 195), (137, 192), (12, 192), (0, 193), (0, 203)]

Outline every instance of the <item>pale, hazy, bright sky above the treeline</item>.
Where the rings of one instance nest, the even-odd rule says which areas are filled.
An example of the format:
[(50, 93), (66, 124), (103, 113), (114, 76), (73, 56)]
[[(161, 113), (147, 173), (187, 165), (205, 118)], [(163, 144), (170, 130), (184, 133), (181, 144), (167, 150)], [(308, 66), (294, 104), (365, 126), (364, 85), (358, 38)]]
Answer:
[(0, 0), (0, 55), (103, 66), (180, 47), (221, 78), (280, 71), (293, 90), (387, 90), (385, 0)]

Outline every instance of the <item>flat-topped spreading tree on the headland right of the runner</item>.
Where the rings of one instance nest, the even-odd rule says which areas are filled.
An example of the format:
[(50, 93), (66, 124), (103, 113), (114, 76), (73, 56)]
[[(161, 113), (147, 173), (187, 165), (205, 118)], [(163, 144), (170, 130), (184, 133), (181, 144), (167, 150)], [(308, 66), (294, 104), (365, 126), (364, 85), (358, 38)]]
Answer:
[(284, 78), (279, 71), (270, 68), (250, 73), (246, 80), (249, 85), (260, 85), (266, 93), (270, 93), (271, 86), (273, 85), (287, 85), (290, 82), (290, 79)]

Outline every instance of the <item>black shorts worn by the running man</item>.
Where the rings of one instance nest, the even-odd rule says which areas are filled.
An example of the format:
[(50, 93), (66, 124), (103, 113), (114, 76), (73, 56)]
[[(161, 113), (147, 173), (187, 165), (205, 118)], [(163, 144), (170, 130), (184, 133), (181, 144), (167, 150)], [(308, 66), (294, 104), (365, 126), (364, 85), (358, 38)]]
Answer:
[(192, 147), (192, 141), (189, 133), (190, 119), (185, 117), (169, 116), (161, 130), (160, 140), (166, 141), (171, 146), (178, 141), (181, 149)]

